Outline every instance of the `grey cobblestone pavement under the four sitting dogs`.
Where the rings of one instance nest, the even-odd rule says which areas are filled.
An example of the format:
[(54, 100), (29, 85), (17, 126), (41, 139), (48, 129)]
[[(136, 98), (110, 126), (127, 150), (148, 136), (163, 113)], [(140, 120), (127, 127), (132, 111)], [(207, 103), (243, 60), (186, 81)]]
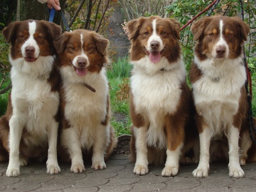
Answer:
[(43, 163), (20, 168), (19, 177), (6, 177), (7, 163), (0, 163), (0, 191), (256, 191), (256, 163), (243, 166), (244, 178), (228, 176), (227, 163), (211, 164), (209, 177), (192, 176), (196, 165), (180, 166), (176, 177), (161, 177), (163, 166), (150, 166), (144, 176), (132, 173), (134, 163), (129, 155), (115, 154), (107, 161), (106, 170), (70, 172), (70, 164), (60, 164), (61, 173), (49, 175)]

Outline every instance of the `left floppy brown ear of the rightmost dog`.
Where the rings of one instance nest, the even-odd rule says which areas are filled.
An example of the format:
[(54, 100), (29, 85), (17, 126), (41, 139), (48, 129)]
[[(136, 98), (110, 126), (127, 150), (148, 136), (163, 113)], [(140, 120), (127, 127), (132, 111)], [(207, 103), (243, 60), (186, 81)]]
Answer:
[(191, 26), (191, 31), (194, 35), (194, 41), (198, 40), (204, 33), (204, 29), (211, 20), (211, 17), (204, 17), (202, 19), (196, 20)]

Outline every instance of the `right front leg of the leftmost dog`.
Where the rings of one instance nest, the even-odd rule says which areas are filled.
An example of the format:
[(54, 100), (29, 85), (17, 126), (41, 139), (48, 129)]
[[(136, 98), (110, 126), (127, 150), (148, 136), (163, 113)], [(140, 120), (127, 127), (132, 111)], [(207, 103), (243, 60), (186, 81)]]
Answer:
[(52, 118), (51, 124), (47, 126), (48, 136), (48, 159), (47, 159), (47, 173), (56, 174), (61, 172), (57, 160), (57, 140), (58, 140), (58, 122)]

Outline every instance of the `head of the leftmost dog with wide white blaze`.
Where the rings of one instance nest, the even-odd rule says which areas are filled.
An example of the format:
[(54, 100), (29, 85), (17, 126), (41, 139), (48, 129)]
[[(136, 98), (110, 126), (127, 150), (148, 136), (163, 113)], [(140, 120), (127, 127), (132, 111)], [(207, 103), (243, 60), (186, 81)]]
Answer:
[(53, 42), (60, 37), (61, 27), (44, 20), (15, 21), (3, 29), (3, 35), (11, 44), (12, 60), (23, 58), (31, 63), (56, 54)]

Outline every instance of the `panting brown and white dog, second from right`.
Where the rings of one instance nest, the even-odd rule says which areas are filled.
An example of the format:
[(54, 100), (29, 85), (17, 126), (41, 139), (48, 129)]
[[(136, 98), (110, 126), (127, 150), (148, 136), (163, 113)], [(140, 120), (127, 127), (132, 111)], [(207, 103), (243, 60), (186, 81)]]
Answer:
[(180, 24), (152, 16), (131, 20), (127, 27), (134, 65), (130, 93), (133, 172), (145, 175), (148, 164), (165, 163), (162, 175), (174, 176), (193, 111), (181, 56)]

